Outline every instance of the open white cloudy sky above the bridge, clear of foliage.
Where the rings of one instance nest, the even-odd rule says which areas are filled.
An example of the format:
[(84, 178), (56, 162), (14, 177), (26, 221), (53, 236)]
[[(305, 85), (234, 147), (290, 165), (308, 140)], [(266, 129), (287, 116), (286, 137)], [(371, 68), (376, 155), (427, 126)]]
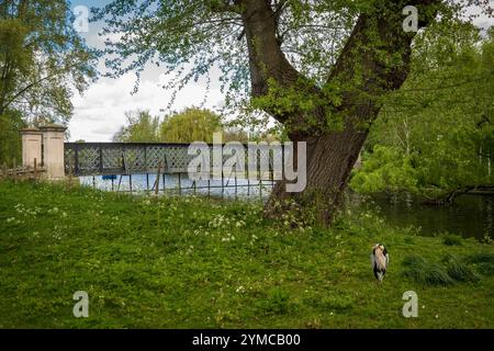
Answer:
[[(78, 5), (101, 7), (109, 0), (72, 0), (75, 9)], [(494, 5), (494, 0), (491, 0)], [(475, 23), (482, 27), (494, 24), (492, 19), (481, 16)], [(89, 46), (103, 47), (104, 37), (98, 35), (101, 24), (90, 23), (88, 32), (80, 33)], [(104, 66), (101, 64), (101, 68)], [(204, 107), (214, 109), (223, 102), (218, 82), (214, 80), (218, 75), (211, 75), (213, 80), (206, 95)], [(148, 67), (142, 75), (139, 90), (132, 94), (135, 84), (135, 75), (127, 73), (117, 79), (100, 78), (96, 83), (79, 95), (75, 92), (71, 101), (74, 104), (74, 116), (69, 122), (70, 141), (111, 141), (113, 135), (125, 124), (125, 112), (136, 110), (149, 110), (151, 115), (162, 116), (170, 99), (171, 91), (161, 87), (169, 80), (165, 76), (165, 69)], [(172, 110), (180, 111), (190, 106), (199, 106), (205, 98), (205, 80), (190, 83), (182, 89), (176, 99)]]

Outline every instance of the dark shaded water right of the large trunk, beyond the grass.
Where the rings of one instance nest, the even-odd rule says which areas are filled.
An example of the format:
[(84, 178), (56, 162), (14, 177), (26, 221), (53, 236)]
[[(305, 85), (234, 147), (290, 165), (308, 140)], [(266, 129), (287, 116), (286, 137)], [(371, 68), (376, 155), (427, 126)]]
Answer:
[(424, 236), (449, 231), (478, 239), (485, 235), (494, 238), (493, 196), (461, 195), (450, 206), (423, 205), (413, 196), (390, 201), (385, 195), (374, 195), (366, 203), (358, 200), (352, 202), (369, 208), (374, 206), (381, 216), (394, 226), (420, 227), (420, 234)]

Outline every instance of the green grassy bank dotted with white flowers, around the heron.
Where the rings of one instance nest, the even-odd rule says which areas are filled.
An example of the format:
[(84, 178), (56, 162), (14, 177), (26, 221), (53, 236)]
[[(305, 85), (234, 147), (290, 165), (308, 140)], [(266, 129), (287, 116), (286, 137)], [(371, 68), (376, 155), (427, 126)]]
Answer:
[[(259, 203), (63, 185), (1, 182), (0, 199), (1, 328), (493, 327), (494, 247), (473, 239), (445, 245), (370, 213), (293, 230)], [(382, 284), (375, 242), (391, 258)], [(424, 262), (451, 282), (414, 278)], [(89, 318), (72, 316), (76, 291)]]

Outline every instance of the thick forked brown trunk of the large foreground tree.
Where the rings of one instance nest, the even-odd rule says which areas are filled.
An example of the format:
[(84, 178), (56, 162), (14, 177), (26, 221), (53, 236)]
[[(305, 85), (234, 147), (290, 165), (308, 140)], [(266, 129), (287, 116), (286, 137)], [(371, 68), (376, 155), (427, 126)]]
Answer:
[[(243, 21), (252, 98), (269, 97), (270, 83), (274, 81), (277, 91), (280, 88), (295, 90), (301, 95), (326, 99), (323, 89), (303, 77), (282, 53), (277, 37), (278, 14), (271, 2), (237, 2), (245, 5)], [(377, 3), (379, 8), (359, 16), (327, 79), (328, 84), (339, 87), (340, 105), (322, 104), (312, 112), (301, 110), (299, 113), (283, 113), (279, 106), (263, 106), (266, 112), (288, 127), (292, 141), (307, 143), (305, 191), (287, 193), (284, 181), (279, 182), (265, 208), (268, 217), (283, 218), (288, 211), (295, 207), (301, 213), (305, 210), (315, 212), (314, 219), (319, 223), (332, 223), (369, 126), (381, 109), (380, 99), (398, 89), (408, 75), (414, 33), (404, 32), (402, 10), (407, 4), (417, 5), (422, 11), (419, 25), (424, 26), (435, 15), (428, 7), (438, 2), (408, 0)], [(343, 121), (343, 131), (326, 128), (328, 115)], [(301, 217), (307, 218), (307, 214)]]

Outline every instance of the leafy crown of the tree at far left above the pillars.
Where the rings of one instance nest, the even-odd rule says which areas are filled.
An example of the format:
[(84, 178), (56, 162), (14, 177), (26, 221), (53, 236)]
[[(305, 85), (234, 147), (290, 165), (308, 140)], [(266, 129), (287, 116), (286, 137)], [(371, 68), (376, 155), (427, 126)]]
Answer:
[(0, 4), (0, 114), (30, 122), (66, 122), (71, 89), (96, 76), (96, 53), (74, 29), (65, 0), (4, 0)]

